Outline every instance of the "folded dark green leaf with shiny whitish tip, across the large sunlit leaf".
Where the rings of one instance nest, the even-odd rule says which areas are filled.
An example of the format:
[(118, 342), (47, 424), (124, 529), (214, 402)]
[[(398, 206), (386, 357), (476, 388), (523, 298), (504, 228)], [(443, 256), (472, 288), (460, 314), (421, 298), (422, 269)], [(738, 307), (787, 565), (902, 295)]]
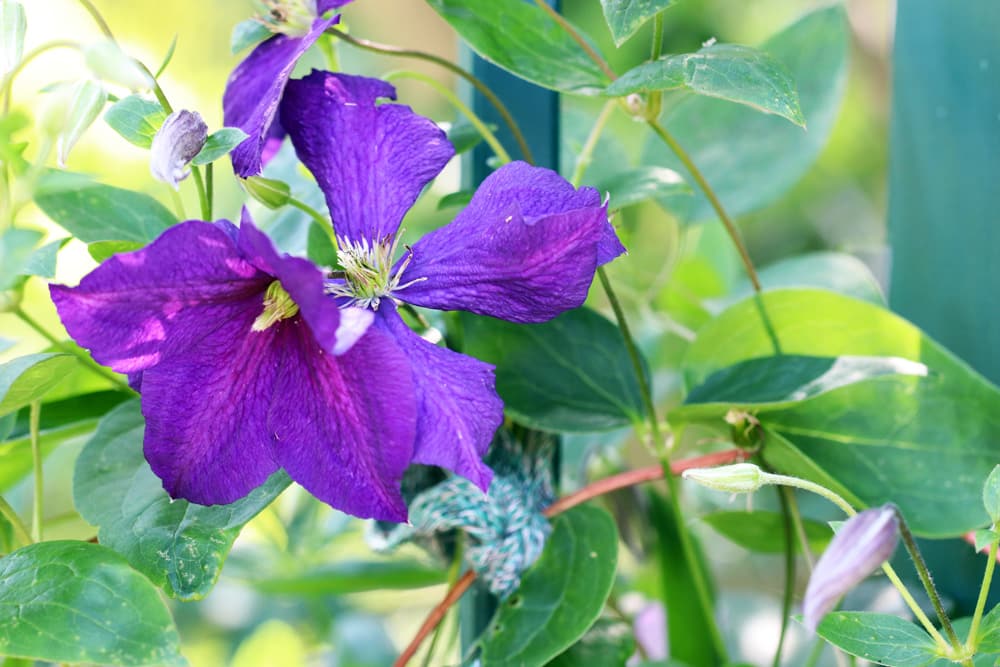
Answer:
[[(783, 354), (741, 361), (692, 389), (671, 419), (722, 417), (730, 408), (774, 410), (885, 375), (927, 375), (921, 363), (896, 357), (808, 357)], [(875, 406), (873, 406), (875, 407)]]

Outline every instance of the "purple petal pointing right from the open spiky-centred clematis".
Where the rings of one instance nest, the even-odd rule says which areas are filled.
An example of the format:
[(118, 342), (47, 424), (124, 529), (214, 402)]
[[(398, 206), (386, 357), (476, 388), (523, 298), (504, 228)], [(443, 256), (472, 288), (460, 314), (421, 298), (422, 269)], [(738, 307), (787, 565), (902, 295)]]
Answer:
[(418, 241), (399, 298), (513, 322), (544, 322), (587, 298), (602, 259), (624, 251), (595, 190), (515, 163), (483, 181), (449, 225)]

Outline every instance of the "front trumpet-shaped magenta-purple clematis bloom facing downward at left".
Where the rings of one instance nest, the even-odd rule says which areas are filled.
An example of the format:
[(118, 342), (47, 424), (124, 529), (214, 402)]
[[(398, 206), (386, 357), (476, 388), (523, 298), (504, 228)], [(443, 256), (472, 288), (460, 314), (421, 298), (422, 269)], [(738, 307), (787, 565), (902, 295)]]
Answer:
[(245, 218), (181, 223), (51, 294), (97, 361), (141, 374), (146, 459), (171, 496), (232, 502), (280, 467), (345, 512), (405, 520), (410, 358), (324, 281)]

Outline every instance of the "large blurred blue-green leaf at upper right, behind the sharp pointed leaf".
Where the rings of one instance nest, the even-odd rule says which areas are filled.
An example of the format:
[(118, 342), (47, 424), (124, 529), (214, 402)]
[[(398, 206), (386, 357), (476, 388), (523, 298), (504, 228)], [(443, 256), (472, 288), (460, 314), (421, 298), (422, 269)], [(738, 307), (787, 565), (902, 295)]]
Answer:
[[(806, 172), (826, 145), (847, 80), (848, 29), (841, 5), (806, 15), (760, 48), (788, 68), (809, 131), (743, 105), (697, 96), (682, 100), (663, 125), (690, 154), (732, 216), (774, 201)], [(644, 162), (688, 172), (652, 133)], [(714, 220), (702, 194), (668, 206), (682, 220)]]

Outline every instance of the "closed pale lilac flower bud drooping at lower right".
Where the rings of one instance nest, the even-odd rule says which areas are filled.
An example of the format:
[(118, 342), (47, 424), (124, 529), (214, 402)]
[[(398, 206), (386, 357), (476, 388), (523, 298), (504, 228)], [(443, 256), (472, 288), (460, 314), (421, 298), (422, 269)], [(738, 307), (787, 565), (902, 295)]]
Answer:
[(849, 590), (889, 560), (899, 541), (899, 517), (892, 504), (854, 515), (841, 526), (816, 563), (802, 602), (810, 630)]

